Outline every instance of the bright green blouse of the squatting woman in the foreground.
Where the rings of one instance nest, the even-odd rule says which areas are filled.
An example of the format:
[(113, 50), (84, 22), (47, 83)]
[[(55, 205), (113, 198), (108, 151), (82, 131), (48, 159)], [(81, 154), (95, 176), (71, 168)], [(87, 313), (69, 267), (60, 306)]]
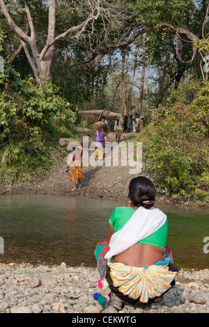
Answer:
[[(134, 212), (135, 210), (132, 209), (132, 207), (116, 207), (116, 209), (114, 209), (109, 218), (109, 224), (114, 227), (114, 233), (123, 228)], [(167, 244), (168, 226), (168, 221), (166, 221), (159, 230), (137, 243), (159, 246), (160, 248), (165, 249)]]

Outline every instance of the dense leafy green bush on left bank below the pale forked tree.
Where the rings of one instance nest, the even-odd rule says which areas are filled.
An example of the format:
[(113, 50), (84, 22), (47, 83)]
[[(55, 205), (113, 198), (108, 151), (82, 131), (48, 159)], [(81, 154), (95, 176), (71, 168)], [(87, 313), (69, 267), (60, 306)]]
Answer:
[[(10, 86), (12, 88), (12, 86)], [(58, 137), (72, 137), (75, 113), (49, 80), (19, 80), (0, 95), (0, 182), (31, 180), (61, 151)]]

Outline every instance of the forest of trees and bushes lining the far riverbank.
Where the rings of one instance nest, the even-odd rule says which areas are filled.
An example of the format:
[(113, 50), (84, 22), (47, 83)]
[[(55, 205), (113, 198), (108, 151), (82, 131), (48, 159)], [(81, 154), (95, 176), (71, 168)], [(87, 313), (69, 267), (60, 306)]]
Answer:
[(208, 11), (207, 0), (0, 0), (0, 182), (49, 170), (90, 105), (139, 117), (144, 173), (208, 204)]

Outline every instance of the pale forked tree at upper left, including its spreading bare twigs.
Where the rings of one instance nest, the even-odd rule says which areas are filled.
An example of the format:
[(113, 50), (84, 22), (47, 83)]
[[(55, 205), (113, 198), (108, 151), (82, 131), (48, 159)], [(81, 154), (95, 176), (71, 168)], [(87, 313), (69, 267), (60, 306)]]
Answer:
[[(93, 35), (93, 26), (95, 21), (99, 17), (102, 17), (103, 22), (107, 19), (110, 19), (114, 13), (114, 10), (116, 10), (115, 8), (118, 8), (118, 3), (116, 3), (117, 6), (114, 6), (113, 3), (110, 3), (111, 1), (106, 0), (88, 0), (85, 2), (85, 4), (84, 1), (64, 1), (66, 2), (66, 6), (67, 4), (68, 6), (70, 6), (71, 4), (75, 7), (74, 9), (77, 10), (77, 15), (79, 15), (79, 8), (77, 6), (79, 6), (79, 2), (81, 3), (82, 10), (80, 17), (82, 17), (82, 21), (75, 24), (75, 26), (71, 25), (69, 29), (63, 31), (59, 35), (56, 35), (56, 9), (58, 1), (49, 0), (48, 8), (47, 3), (45, 3), (45, 1), (38, 1), (38, 3), (41, 3), (42, 6), (45, 6), (45, 10), (48, 10), (48, 26), (47, 31), (45, 31), (47, 35), (47, 40), (45, 42), (45, 45), (43, 45), (42, 49), (39, 50), (38, 32), (36, 31), (35, 26), (33, 24), (33, 17), (31, 15), (30, 10), (30, 5), (34, 5), (36, 1), (30, 2), (32, 3), (29, 3), (29, 1), (24, 1), (24, 11), (26, 13), (31, 35), (27, 35), (24, 32), (24, 29), (20, 28), (20, 26), (15, 23), (13, 17), (8, 11), (6, 1), (0, 0), (0, 7), (3, 11), (3, 15), (7, 19), (10, 29), (12, 29), (15, 35), (17, 35), (17, 38), (19, 38), (22, 47), (24, 48), (26, 57), (28, 58), (28, 61), (33, 70), (34, 76), (36, 77), (36, 81), (40, 86), (45, 83), (45, 80), (48, 77), (50, 77), (52, 61), (54, 57), (54, 47), (56, 42), (67, 38), (68, 35), (71, 35), (71, 38), (77, 41), (79, 40), (79, 38), (82, 38), (82, 34), (84, 32), (86, 33), (86, 31), (88, 31), (87, 38), (91, 38), (91, 36)], [(102, 26), (104, 27), (103, 24)]]

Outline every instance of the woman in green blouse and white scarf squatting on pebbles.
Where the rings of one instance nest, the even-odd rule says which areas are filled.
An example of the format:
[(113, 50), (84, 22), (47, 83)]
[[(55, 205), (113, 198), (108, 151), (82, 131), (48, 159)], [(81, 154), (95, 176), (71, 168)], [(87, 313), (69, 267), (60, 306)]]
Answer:
[(153, 207), (155, 186), (146, 177), (130, 181), (126, 207), (109, 219), (107, 241), (95, 248), (100, 278), (111, 289), (111, 305), (148, 303), (175, 285), (178, 268), (167, 244), (167, 216)]

